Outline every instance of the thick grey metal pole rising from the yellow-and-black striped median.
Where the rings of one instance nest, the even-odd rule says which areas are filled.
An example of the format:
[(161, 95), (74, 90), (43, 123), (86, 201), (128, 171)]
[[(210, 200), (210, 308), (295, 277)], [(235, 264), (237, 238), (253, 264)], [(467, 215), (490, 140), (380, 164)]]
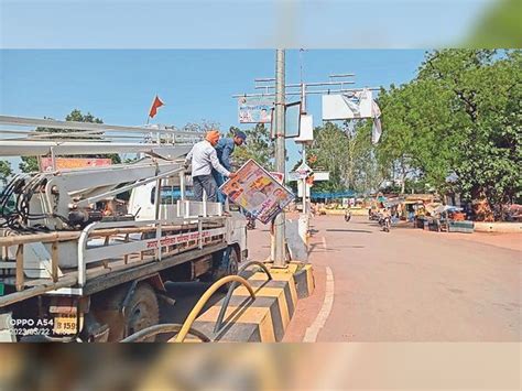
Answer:
[[(284, 173), (285, 145), (284, 145), (284, 50), (275, 52), (275, 170)], [(284, 211), (275, 217), (274, 221), (274, 267), (284, 268), (286, 265), (284, 246)]]

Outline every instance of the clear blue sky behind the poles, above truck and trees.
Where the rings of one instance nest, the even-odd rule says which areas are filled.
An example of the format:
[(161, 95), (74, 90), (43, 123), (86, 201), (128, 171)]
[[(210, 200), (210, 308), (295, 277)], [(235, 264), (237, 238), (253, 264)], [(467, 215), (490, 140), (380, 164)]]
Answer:
[[(300, 83), (302, 67), (308, 83), (354, 73), (356, 84), (350, 87), (400, 85), (415, 76), (424, 54), (422, 50), (286, 51), (286, 84)], [(259, 93), (254, 78), (273, 77), (274, 72), (273, 50), (2, 50), (0, 113), (64, 119), (79, 109), (105, 123), (140, 126), (157, 94), (165, 106), (151, 123), (183, 127), (208, 120), (226, 132), (231, 126), (252, 127), (239, 124), (232, 95)], [(308, 97), (307, 111), (314, 126), (322, 123), (319, 95)], [(290, 140), (287, 151), (292, 167), (300, 152)]]

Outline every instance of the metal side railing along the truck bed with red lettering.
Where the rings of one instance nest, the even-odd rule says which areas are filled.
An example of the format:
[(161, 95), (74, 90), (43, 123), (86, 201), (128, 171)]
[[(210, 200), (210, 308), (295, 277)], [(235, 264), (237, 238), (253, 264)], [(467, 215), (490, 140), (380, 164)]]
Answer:
[[(0, 276), (0, 282), (6, 287), (12, 286), (13, 292), (0, 296), (0, 307), (63, 289), (74, 289), (67, 293), (81, 295), (89, 280), (154, 262), (161, 263), (191, 250), (202, 250), (215, 245), (226, 247), (225, 219), (226, 217), (214, 216), (93, 222), (81, 231), (2, 237), (0, 270), (4, 273)], [(48, 276), (26, 278), (25, 254), (33, 250), (32, 247), (42, 245), (51, 248)], [(61, 247), (76, 250), (73, 268), (61, 267), (61, 252), (64, 253)], [(70, 260), (65, 262), (67, 265), (70, 263)], [(165, 262), (165, 267), (167, 265), (171, 264)]]

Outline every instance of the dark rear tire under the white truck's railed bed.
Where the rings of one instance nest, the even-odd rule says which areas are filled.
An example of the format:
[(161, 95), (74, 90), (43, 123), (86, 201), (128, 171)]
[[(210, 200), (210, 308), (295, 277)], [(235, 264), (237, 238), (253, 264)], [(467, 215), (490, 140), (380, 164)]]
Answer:
[[(107, 297), (102, 308), (96, 311), (96, 317), (110, 328), (108, 341), (119, 341), (143, 328), (160, 323), (160, 306), (157, 297), (145, 282), (135, 286), (127, 303), (124, 314), (121, 313), (123, 301), (129, 292), (129, 285), (119, 289)], [(154, 341), (154, 337), (145, 339)]]

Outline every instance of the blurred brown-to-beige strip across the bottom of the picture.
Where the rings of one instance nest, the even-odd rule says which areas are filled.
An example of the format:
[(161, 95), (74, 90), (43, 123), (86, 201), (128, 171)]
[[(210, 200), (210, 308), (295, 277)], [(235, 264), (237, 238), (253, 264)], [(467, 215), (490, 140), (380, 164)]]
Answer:
[(0, 390), (520, 390), (522, 344), (2, 346)]

